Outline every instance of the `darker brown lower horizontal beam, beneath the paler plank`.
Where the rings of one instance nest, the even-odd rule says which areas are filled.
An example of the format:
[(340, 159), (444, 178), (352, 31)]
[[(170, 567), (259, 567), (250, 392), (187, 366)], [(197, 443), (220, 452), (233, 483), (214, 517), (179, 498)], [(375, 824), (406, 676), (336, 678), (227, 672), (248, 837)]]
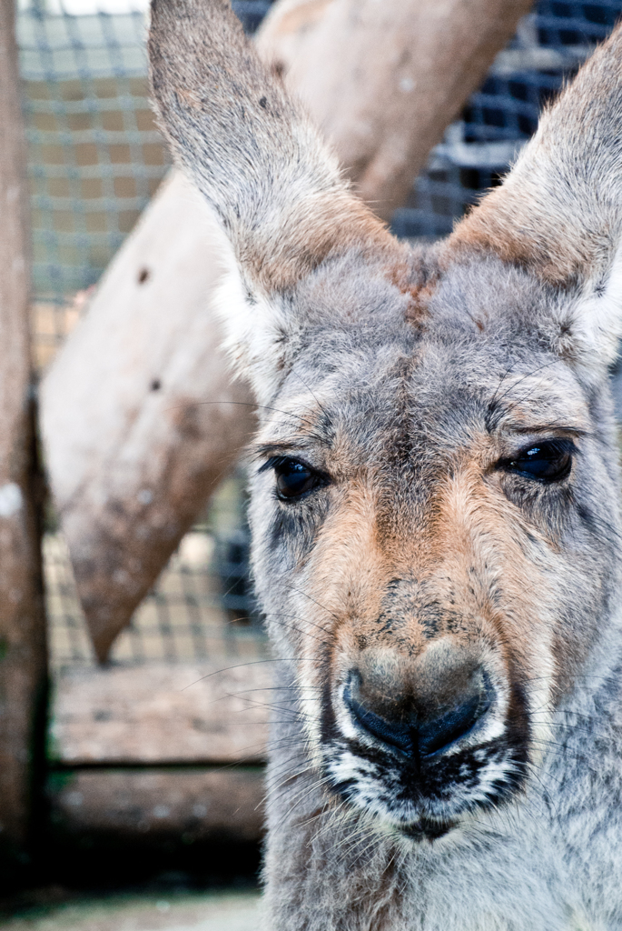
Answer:
[(48, 789), (57, 830), (117, 843), (258, 841), (264, 793), (261, 768), (83, 770)]

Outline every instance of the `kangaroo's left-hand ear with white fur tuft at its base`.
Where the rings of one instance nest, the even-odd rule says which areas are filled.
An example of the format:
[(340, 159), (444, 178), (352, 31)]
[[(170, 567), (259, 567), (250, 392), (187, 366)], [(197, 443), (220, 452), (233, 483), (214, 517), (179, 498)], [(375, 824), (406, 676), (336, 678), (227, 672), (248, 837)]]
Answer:
[(229, 344), (259, 398), (270, 397), (287, 331), (300, 326), (298, 282), (349, 250), (399, 247), (259, 61), (229, 0), (153, 0), (149, 53), (161, 126), (241, 273), (220, 295)]

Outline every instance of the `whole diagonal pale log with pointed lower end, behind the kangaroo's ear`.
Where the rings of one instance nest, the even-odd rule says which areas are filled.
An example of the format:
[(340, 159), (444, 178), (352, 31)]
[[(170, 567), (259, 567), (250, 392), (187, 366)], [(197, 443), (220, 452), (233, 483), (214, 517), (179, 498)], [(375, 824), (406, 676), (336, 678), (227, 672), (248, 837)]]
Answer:
[[(389, 216), (530, 3), (281, 0), (258, 46)], [(101, 661), (252, 430), (210, 314), (224, 249), (210, 224), (174, 175), (44, 384), (50, 483)]]

